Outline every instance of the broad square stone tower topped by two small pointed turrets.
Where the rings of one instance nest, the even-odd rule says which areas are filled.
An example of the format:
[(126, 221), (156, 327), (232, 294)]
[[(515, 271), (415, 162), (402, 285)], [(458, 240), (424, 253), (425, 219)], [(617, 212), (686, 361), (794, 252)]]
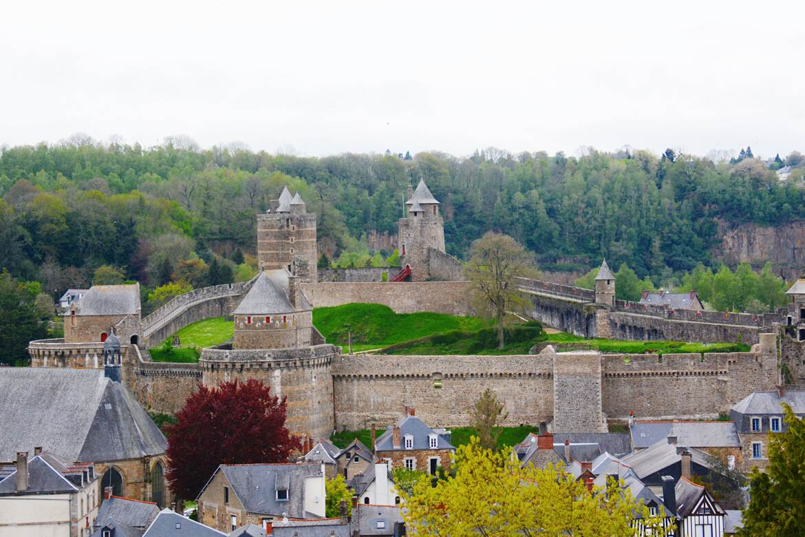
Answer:
[(308, 213), (299, 196), (283, 188), (265, 214), (257, 217), (257, 256), (260, 270), (284, 268), (303, 282), (316, 283), (316, 214)]

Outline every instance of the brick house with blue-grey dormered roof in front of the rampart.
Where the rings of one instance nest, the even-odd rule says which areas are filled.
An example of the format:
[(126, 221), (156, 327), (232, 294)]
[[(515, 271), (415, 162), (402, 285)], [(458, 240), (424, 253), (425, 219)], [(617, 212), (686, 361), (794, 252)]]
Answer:
[(452, 464), (456, 448), (450, 444), (450, 432), (431, 429), (416, 417), (413, 408), (397, 423), (386, 428), (374, 444), (374, 454), (390, 469), (407, 468), (435, 474), (440, 466)]

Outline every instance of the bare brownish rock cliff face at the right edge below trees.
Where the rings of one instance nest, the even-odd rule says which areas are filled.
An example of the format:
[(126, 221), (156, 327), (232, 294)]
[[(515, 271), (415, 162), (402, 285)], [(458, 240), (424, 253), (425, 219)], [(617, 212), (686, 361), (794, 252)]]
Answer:
[(796, 278), (805, 268), (805, 221), (779, 227), (719, 222), (721, 245), (713, 257), (734, 265), (748, 261), (756, 268), (770, 261), (786, 279)]

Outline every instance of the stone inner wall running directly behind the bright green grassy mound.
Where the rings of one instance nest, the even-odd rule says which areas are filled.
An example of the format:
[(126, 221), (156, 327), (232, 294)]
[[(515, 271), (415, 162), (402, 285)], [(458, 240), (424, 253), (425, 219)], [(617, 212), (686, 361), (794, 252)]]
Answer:
[(352, 302), (385, 304), (397, 313), (437, 312), (473, 315), (469, 282), (303, 283), (314, 308)]

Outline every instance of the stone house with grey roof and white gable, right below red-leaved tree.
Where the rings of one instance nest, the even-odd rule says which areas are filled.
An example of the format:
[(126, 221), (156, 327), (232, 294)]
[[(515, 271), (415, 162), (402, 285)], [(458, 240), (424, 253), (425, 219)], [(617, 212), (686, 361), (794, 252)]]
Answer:
[(324, 465), (221, 465), (201, 489), (199, 521), (220, 531), (276, 519), (324, 518)]

